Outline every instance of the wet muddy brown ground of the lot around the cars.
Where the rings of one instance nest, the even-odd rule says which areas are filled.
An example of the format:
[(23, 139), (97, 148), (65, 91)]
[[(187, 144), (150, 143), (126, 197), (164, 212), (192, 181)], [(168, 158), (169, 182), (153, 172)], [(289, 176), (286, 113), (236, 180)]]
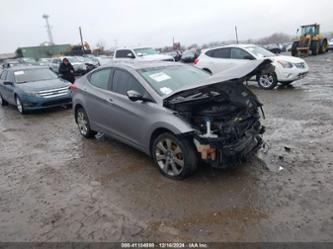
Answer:
[(0, 241), (332, 241), (333, 53), (306, 60), (294, 87), (250, 83), (269, 150), (185, 181), (115, 140), (83, 139), (71, 110), (0, 107)]

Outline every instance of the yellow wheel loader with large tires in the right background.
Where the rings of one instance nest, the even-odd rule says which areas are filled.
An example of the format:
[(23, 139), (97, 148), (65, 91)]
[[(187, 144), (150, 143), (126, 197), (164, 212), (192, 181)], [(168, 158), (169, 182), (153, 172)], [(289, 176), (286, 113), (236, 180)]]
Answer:
[(317, 55), (328, 51), (327, 38), (320, 33), (320, 24), (303, 25), (300, 31), (299, 39), (291, 47), (292, 56)]

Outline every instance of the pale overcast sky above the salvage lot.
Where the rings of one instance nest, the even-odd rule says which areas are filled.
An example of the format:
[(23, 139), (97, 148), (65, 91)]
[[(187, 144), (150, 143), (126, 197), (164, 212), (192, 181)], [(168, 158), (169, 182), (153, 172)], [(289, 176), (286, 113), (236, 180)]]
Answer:
[(333, 1), (299, 0), (0, 0), (0, 53), (47, 41), (44, 13), (54, 41), (79, 43), (78, 27), (91, 46), (184, 45), (295, 34), (301, 24), (318, 22), (333, 31)]

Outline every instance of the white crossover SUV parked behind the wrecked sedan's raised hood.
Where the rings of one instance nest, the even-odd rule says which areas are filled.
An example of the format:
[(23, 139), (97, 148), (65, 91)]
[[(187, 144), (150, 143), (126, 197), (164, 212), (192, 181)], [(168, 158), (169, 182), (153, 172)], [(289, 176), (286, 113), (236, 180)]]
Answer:
[(303, 59), (275, 55), (262, 47), (244, 44), (202, 50), (194, 63), (197, 67), (215, 74), (247, 63), (249, 60), (264, 58), (272, 60), (275, 66), (273, 73), (259, 73), (256, 76), (259, 86), (264, 89), (273, 89), (278, 82), (288, 85), (303, 78), (309, 72), (309, 67)]

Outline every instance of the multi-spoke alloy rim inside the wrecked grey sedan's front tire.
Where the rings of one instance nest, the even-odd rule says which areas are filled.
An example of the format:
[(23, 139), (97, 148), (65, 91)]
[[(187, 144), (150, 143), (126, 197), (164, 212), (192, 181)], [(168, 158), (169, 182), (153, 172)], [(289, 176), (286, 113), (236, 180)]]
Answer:
[(160, 140), (155, 147), (158, 166), (169, 176), (178, 176), (184, 169), (184, 156), (181, 147), (170, 138)]

